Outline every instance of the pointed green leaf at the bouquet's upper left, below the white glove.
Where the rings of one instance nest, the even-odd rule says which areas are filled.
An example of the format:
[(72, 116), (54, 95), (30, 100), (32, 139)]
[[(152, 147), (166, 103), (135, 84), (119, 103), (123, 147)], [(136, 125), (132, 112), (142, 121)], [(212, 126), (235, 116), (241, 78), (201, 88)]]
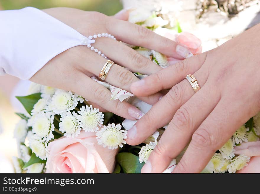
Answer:
[(16, 98), (22, 103), (23, 107), (25, 107), (25, 110), (31, 114), (33, 106), (41, 98), (40, 95), (41, 93), (35, 93), (29, 96), (16, 96)]

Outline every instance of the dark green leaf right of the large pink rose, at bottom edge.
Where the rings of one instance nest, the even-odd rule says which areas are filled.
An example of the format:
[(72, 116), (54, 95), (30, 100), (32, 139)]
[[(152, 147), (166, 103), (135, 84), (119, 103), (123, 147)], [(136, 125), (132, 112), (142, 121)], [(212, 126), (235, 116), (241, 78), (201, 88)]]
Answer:
[(124, 173), (141, 173), (144, 162), (139, 162), (139, 157), (129, 152), (117, 154), (116, 161), (122, 167)]

